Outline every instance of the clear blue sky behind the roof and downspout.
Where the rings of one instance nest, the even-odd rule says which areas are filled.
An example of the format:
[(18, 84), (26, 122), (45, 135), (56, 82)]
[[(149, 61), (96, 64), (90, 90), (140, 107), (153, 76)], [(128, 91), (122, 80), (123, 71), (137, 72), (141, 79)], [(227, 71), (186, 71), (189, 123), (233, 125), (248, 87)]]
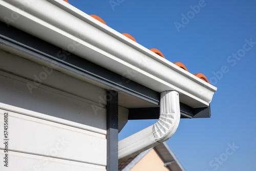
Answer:
[[(190, 73), (203, 73), (218, 88), (211, 118), (181, 119), (167, 141), (187, 170), (256, 169), (256, 1), (69, 2), (159, 49), (167, 60), (182, 62)], [(119, 138), (155, 122), (129, 121)]]

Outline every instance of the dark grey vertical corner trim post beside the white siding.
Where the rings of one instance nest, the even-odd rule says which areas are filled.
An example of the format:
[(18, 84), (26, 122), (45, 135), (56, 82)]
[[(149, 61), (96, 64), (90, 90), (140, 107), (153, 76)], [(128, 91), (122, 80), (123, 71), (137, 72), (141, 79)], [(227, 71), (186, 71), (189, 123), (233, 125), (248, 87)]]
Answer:
[(118, 170), (118, 93), (106, 92), (106, 171)]

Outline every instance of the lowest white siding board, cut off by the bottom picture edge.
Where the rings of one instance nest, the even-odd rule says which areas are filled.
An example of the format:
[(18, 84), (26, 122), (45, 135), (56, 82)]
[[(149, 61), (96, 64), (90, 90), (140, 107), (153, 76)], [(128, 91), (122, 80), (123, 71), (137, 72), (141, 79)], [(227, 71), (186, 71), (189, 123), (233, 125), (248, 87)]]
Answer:
[[(0, 156), (4, 152), (0, 149)], [(30, 155), (24, 153), (17, 153), (9, 151), (8, 167), (1, 162), (1, 171), (19, 170), (19, 171), (103, 171), (105, 166), (98, 166), (94, 164), (75, 162), (70, 160), (56, 159), (45, 156)]]

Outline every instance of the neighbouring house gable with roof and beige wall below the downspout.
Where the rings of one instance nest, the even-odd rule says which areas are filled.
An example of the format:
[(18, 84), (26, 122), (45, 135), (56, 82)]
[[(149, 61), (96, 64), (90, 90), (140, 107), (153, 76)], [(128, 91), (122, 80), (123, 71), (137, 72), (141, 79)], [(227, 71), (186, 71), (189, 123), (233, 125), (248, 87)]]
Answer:
[[(158, 157), (162, 160), (161, 163), (158, 163), (158, 164), (162, 164), (162, 166), (160, 165), (161, 168), (158, 168), (158, 170), (172, 170), (172, 171), (184, 171), (185, 170), (185, 168), (182, 166), (182, 164), (180, 163), (180, 161), (175, 156), (174, 152), (172, 151), (172, 149), (170, 149), (170, 147), (168, 146), (168, 144), (166, 142), (163, 142), (163, 143), (155, 146), (154, 148), (150, 148), (147, 151), (142, 152), (141, 154), (139, 154), (137, 156), (134, 156), (132, 158), (129, 158), (129, 159), (119, 163), (118, 170), (119, 171), (128, 171), (128, 170), (135, 171), (141, 167), (153, 168), (153, 166), (151, 166), (151, 164), (154, 164), (156, 166), (156, 164), (154, 163), (154, 162), (157, 162), (156, 159), (154, 159), (155, 161), (152, 161), (152, 162), (148, 162), (148, 159), (145, 160), (147, 163), (141, 162), (142, 159), (146, 158), (146, 155), (148, 155), (151, 151), (155, 151), (156, 154), (158, 155)], [(153, 155), (154, 155), (154, 152), (153, 152)], [(138, 166), (138, 165), (140, 165), (140, 166)]]

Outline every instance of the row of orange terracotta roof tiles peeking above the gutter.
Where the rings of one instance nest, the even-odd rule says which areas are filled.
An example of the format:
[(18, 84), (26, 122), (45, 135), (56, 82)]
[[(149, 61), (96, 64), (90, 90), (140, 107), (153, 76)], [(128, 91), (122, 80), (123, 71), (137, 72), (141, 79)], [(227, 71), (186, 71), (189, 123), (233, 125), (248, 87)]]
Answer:
[[(69, 3), (69, 2), (66, 1), (66, 0), (63, 0), (63, 1)], [(95, 19), (97, 19), (99, 22), (103, 23), (104, 25), (106, 25), (106, 23), (104, 22), (104, 20), (101, 19), (99, 16), (97, 16), (97, 15), (90, 15), (90, 16), (93, 17), (93, 18), (95, 18)], [(132, 39), (133, 41), (137, 42), (137, 41), (135, 40), (135, 38), (134, 38), (133, 36), (131, 36), (130, 34), (127, 34), (127, 33), (122, 33), (122, 34), (123, 34), (124, 36), (126, 36), (126, 37)], [(152, 49), (150, 49), (150, 50), (151, 50), (152, 52), (158, 54), (159, 56), (165, 58), (164, 55), (163, 55), (158, 49), (152, 48)], [(187, 68), (183, 65), (183, 63), (181, 63), (181, 62), (174, 62), (174, 64), (177, 65), (178, 67), (182, 68), (183, 70), (188, 71)], [(207, 79), (203, 74), (200, 73), (200, 74), (194, 74), (194, 75), (197, 76), (198, 78), (202, 79), (203, 81), (209, 83), (208, 79)]]

